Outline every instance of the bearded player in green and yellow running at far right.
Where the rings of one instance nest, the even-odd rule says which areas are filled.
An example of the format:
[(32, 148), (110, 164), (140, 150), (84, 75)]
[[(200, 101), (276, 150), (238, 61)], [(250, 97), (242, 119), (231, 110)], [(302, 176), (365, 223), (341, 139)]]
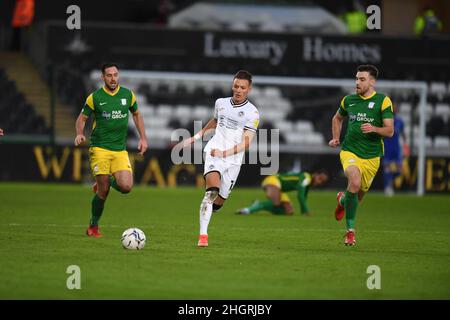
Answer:
[(384, 154), (383, 137), (394, 134), (394, 111), (388, 96), (375, 92), (378, 69), (360, 65), (356, 73), (356, 93), (345, 96), (332, 120), (330, 147), (340, 145), (342, 122), (348, 117), (347, 133), (340, 152), (341, 164), (348, 180), (347, 191), (337, 195), (336, 220), (346, 217), (344, 244), (353, 246), (355, 216), (361, 201), (380, 166)]

